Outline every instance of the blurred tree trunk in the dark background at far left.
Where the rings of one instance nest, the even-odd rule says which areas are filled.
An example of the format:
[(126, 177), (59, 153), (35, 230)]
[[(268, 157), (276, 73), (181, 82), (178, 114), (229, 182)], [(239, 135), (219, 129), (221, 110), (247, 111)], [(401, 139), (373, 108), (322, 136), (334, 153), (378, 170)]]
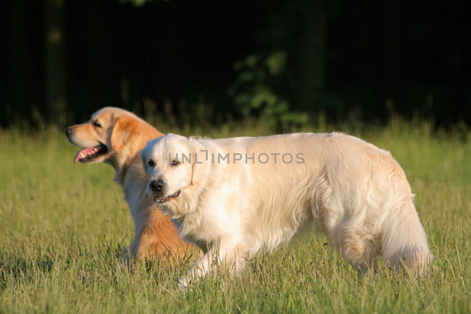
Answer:
[(67, 123), (64, 52), (64, 1), (45, 0), (45, 81), (49, 121)]

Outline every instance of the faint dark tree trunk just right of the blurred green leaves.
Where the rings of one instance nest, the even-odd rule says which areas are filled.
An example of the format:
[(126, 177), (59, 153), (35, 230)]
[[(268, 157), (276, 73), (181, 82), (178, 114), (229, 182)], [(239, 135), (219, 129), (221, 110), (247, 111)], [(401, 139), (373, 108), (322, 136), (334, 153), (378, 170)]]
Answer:
[(303, 30), (299, 43), (298, 99), (300, 108), (323, 110), (325, 87), (325, 4), (307, 1), (301, 13)]

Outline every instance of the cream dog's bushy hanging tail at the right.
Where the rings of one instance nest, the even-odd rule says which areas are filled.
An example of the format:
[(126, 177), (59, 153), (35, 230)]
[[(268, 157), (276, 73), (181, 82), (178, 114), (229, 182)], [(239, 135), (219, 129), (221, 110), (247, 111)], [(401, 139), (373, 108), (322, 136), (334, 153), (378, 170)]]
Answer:
[(427, 272), (434, 256), (412, 201), (396, 204), (383, 225), (381, 255), (399, 272), (406, 265), (416, 276)]

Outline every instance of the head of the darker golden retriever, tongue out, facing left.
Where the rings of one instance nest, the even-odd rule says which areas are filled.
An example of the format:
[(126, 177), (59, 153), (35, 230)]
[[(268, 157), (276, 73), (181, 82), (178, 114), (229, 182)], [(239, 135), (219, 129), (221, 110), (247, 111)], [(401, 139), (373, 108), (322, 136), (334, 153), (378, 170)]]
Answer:
[(108, 162), (113, 166), (129, 160), (146, 145), (146, 134), (155, 138), (155, 132), (145, 121), (121, 108), (105, 107), (91, 119), (65, 129), (67, 140), (82, 147), (74, 163)]

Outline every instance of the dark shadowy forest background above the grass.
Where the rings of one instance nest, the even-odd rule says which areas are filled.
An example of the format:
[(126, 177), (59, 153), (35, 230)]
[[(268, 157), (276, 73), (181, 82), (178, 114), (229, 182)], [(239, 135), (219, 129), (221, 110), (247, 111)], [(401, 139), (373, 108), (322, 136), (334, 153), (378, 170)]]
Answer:
[(65, 126), (107, 105), (177, 123), (203, 108), (216, 125), (391, 112), (471, 125), (461, 3), (7, 0), (0, 125)]

